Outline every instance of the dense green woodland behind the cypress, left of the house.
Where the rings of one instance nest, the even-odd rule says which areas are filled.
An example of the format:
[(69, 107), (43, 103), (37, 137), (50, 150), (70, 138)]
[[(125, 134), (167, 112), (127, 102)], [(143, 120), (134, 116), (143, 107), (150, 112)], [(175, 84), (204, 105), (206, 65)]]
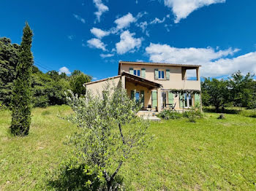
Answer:
[[(0, 38), (0, 107), (10, 106), (13, 82), (16, 76), (19, 44)], [(75, 70), (70, 76), (58, 71), (43, 73), (37, 66), (32, 70), (32, 103), (33, 106), (61, 105), (66, 103), (64, 92), (68, 89), (78, 95), (85, 93), (83, 83), (90, 82), (91, 77)]]

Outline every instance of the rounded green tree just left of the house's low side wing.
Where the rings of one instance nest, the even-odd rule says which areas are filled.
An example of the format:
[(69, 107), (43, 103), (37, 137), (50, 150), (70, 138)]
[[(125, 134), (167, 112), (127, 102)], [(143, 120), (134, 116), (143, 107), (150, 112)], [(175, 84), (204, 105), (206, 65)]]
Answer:
[(70, 79), (70, 87), (72, 92), (78, 95), (85, 94), (86, 87), (84, 87), (83, 85), (87, 82), (91, 82), (91, 77), (89, 77), (88, 75), (83, 74), (83, 72), (74, 75), (72, 73), (72, 77)]

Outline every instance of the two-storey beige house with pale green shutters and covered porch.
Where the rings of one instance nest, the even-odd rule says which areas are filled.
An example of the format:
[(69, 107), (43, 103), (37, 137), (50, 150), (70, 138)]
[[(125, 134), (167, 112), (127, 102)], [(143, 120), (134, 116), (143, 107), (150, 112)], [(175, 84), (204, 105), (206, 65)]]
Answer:
[[(112, 80), (123, 86), (131, 98), (142, 98), (142, 110), (162, 111), (174, 107), (189, 109), (200, 101), (200, 65), (120, 61), (118, 75), (85, 84), (92, 93), (102, 93)], [(195, 77), (188, 74), (194, 71)]]

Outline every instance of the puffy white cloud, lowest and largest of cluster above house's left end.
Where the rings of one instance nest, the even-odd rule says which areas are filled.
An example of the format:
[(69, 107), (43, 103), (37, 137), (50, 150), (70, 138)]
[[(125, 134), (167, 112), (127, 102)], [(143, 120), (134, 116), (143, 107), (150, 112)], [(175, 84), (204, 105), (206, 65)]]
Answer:
[(129, 33), (124, 31), (120, 35), (120, 42), (116, 43), (116, 52), (119, 55), (123, 55), (126, 52), (134, 52), (135, 48), (140, 48), (142, 39), (134, 38), (135, 33)]

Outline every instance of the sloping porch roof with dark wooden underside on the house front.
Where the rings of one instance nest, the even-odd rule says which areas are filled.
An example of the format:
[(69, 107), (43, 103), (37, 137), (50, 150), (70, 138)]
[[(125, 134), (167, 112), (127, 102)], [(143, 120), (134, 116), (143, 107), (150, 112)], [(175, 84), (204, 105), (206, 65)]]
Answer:
[(138, 77), (138, 76), (135, 76), (133, 74), (129, 74), (125, 71), (123, 71), (121, 73), (121, 76), (125, 76), (128, 82), (132, 82), (132, 83), (135, 83), (135, 84), (137, 83), (138, 85), (148, 87), (149, 89), (153, 89), (153, 88), (156, 88), (156, 87), (162, 87), (162, 85), (159, 84), (159, 83), (152, 82), (148, 79)]

